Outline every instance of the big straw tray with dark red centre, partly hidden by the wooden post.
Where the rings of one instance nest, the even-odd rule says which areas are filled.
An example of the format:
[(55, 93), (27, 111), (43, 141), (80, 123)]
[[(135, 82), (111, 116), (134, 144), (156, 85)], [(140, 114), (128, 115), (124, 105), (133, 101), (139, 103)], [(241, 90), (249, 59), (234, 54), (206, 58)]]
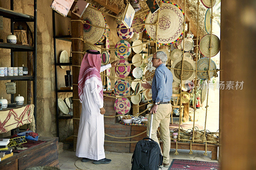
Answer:
[[(102, 13), (92, 8), (86, 8), (83, 14), (83, 20), (92, 25), (105, 27), (105, 19)], [(100, 40), (104, 31), (104, 28), (84, 24), (84, 39), (91, 44), (95, 44)]]

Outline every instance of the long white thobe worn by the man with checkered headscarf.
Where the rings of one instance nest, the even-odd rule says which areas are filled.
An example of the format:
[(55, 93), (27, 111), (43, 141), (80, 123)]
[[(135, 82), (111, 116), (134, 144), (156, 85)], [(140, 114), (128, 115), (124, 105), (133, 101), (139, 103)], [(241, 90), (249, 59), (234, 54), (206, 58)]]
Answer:
[[(101, 66), (100, 72), (110, 67), (111, 64)], [(84, 85), (76, 143), (76, 156), (93, 160), (105, 158), (104, 117), (100, 114), (103, 101), (97, 89), (96, 81)]]

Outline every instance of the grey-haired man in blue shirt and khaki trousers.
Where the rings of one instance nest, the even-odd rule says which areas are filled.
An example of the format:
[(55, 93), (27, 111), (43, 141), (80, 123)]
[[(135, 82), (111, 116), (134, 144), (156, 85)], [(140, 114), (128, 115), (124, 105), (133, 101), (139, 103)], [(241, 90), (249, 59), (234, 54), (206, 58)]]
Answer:
[[(152, 63), (153, 67), (156, 67), (155, 75), (152, 80), (152, 86), (147, 82), (143, 83), (142, 87), (145, 89), (152, 89), (152, 100), (153, 106), (150, 113), (153, 113), (153, 126), (151, 138), (158, 144), (158, 139), (156, 136), (156, 131), (160, 125), (161, 136), (163, 140), (163, 157), (164, 157), (164, 167), (169, 167), (169, 152), (170, 152), (170, 115), (172, 111), (172, 105), (170, 103), (172, 96), (172, 73), (165, 66), (167, 60), (167, 55), (164, 51), (156, 52), (153, 55)], [(148, 122), (151, 120), (151, 114), (148, 116)], [(147, 126), (147, 136), (149, 136), (150, 124)], [(160, 146), (160, 145), (159, 145)]]

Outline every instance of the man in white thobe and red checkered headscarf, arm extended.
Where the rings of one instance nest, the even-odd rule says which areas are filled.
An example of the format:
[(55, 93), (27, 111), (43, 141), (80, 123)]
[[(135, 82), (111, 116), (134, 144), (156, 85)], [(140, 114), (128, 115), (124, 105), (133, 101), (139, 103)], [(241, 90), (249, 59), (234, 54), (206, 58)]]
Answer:
[(100, 52), (87, 50), (79, 73), (78, 93), (82, 103), (76, 156), (83, 162), (93, 160), (94, 164), (108, 164), (104, 152), (103, 88), (100, 72), (116, 66), (117, 61), (101, 67)]

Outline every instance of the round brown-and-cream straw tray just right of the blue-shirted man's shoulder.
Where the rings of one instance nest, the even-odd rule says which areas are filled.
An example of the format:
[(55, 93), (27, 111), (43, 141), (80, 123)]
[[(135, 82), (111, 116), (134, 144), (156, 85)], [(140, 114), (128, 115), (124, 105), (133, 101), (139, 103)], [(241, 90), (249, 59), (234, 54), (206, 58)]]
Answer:
[[(179, 57), (172, 63), (171, 68), (181, 69), (181, 66), (182, 66), (182, 57)], [(190, 59), (188, 57), (184, 57), (183, 69), (184, 70), (196, 70), (196, 64), (192, 59)], [(196, 77), (195, 71), (184, 71), (184, 70), (183, 70), (182, 83), (188, 83)], [(173, 80), (180, 83), (181, 70), (171, 69), (171, 72), (172, 72)]]

